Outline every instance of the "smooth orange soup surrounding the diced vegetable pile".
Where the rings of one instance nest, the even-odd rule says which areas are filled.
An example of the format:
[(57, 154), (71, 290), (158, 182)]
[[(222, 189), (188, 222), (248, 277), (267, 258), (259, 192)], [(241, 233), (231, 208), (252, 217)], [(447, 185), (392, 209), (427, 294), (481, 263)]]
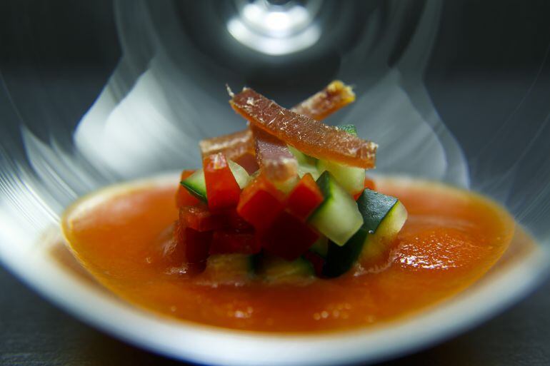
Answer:
[(514, 236), (510, 215), (474, 193), (408, 178), (379, 179), (376, 190), (409, 212), (390, 257), (296, 285), (224, 285), (167, 264), (156, 249), (178, 212), (174, 185), (163, 181), (90, 195), (69, 208), (63, 229), (81, 263), (124, 300), (180, 320), (268, 332), (346, 330), (411, 315), (474, 283)]

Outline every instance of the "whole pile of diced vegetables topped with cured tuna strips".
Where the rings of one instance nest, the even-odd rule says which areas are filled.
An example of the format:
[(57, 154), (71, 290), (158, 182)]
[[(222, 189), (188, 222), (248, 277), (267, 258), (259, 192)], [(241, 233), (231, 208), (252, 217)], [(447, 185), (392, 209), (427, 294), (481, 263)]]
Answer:
[(321, 119), (354, 101), (341, 81), (286, 109), (251, 88), (229, 103), (244, 131), (201, 141), (203, 167), (183, 171), (174, 238), (185, 265), (214, 278), (334, 278), (386, 252), (401, 202), (366, 178), (376, 144)]

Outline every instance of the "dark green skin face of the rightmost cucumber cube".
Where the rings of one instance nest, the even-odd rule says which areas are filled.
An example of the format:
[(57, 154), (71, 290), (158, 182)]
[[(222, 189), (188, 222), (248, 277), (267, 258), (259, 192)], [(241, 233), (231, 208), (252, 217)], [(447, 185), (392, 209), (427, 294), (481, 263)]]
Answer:
[(395, 197), (365, 188), (357, 200), (359, 212), (363, 216), (364, 230), (368, 233), (375, 233), (382, 220), (397, 202), (398, 199)]

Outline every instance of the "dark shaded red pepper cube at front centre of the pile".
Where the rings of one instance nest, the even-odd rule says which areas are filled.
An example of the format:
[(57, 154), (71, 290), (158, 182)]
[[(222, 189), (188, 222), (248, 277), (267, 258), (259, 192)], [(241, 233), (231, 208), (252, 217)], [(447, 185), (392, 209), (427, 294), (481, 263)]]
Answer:
[(312, 228), (296, 216), (283, 211), (269, 229), (261, 233), (265, 250), (286, 260), (295, 260), (319, 238)]

